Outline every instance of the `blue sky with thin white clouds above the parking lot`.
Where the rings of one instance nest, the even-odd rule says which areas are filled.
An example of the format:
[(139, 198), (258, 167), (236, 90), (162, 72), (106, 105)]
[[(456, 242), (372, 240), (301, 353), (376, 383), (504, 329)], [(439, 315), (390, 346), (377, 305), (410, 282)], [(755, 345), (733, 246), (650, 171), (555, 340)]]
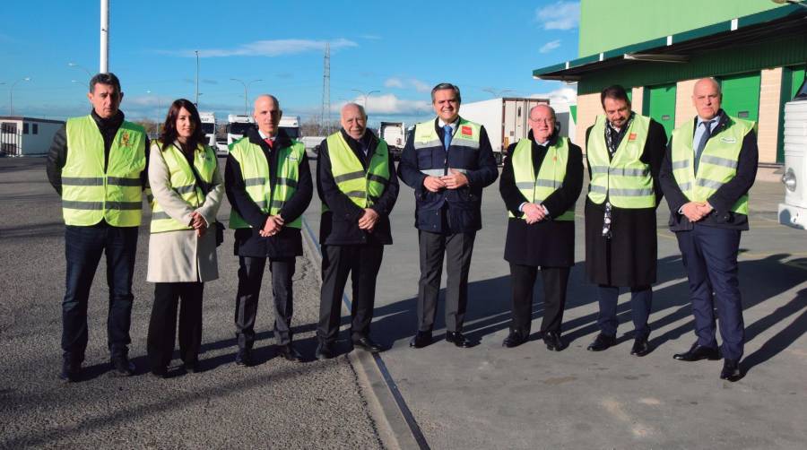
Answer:
[[(86, 114), (88, 74), (99, 66), (99, 0), (7, 2), (0, 28), (0, 115)], [(243, 113), (270, 92), (286, 115), (318, 117), (323, 48), (331, 44), (332, 117), (369, 96), (370, 122), (429, 117), (431, 87), (454, 82), (463, 101), (551, 93), (532, 70), (577, 56), (574, 1), (363, 2), (110, 0), (109, 69), (123, 84), (127, 117), (164, 117), (170, 101), (194, 99), (199, 50), (201, 110)], [(573, 92), (573, 91), (571, 91)], [(497, 95), (498, 96), (498, 95)], [(554, 97), (553, 97), (554, 98)], [(158, 108), (159, 104), (159, 108)]]

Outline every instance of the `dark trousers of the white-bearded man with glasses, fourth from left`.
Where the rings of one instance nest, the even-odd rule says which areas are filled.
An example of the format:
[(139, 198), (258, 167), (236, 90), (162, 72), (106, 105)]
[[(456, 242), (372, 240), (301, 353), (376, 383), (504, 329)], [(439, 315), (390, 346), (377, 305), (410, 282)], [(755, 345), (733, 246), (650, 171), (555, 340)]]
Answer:
[(384, 246), (322, 246), (322, 290), (319, 301), (317, 337), (321, 342), (334, 342), (339, 334), (344, 285), (350, 273), (351, 339), (369, 335), (376, 303), (376, 279)]

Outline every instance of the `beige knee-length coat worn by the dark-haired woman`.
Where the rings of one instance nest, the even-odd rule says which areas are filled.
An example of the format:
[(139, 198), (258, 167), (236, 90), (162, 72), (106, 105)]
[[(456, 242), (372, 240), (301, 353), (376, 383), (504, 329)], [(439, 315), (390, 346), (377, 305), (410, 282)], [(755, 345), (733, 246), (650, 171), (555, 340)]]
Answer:
[[(178, 143), (175, 143), (178, 145)], [(162, 150), (152, 143), (149, 158), (149, 184), (152, 195), (163, 211), (182, 223), (191, 222), (191, 214), (199, 212), (207, 221), (208, 229), (197, 238), (194, 229), (152, 233), (149, 238), (149, 268), (146, 281), (189, 282), (213, 281), (219, 278), (216, 260), (216, 234), (213, 222), (224, 196), (224, 183), (218, 167), (213, 172), (212, 189), (198, 208), (185, 202), (171, 188), (170, 172)]]

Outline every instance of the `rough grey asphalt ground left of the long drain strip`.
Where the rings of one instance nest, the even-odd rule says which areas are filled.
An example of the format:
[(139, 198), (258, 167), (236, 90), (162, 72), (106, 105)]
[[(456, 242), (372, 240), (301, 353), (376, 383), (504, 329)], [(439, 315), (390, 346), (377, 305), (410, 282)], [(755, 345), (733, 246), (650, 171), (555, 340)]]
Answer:
[[(291, 363), (275, 356), (267, 273), (256, 324), (258, 364), (232, 363), (238, 261), (230, 232), (219, 249), (221, 279), (205, 285), (201, 373), (181, 372), (175, 359), (168, 379), (148, 374), (144, 354), (153, 286), (145, 282), (143, 228), (130, 347), (137, 374), (108, 376), (108, 290), (100, 267), (91, 290), (83, 379), (62, 383), (57, 374), (65, 257), (58, 197), (41, 159), (0, 159), (0, 186), (0, 447), (382, 446), (347, 357), (313, 360), (319, 281), (311, 255), (298, 259), (293, 322), (295, 341), (309, 360)], [(225, 204), (219, 217), (228, 215)], [(341, 346), (349, 350), (345, 342)]]

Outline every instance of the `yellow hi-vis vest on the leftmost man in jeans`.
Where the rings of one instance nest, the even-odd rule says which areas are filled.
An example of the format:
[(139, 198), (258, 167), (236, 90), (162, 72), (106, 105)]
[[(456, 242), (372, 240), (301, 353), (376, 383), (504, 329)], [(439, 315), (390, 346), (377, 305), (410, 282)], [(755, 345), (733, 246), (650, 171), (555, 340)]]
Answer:
[(67, 160), (62, 168), (65, 224), (113, 227), (140, 225), (141, 173), (146, 167), (145, 131), (124, 121), (109, 147), (104, 170), (104, 138), (91, 116), (67, 120)]

